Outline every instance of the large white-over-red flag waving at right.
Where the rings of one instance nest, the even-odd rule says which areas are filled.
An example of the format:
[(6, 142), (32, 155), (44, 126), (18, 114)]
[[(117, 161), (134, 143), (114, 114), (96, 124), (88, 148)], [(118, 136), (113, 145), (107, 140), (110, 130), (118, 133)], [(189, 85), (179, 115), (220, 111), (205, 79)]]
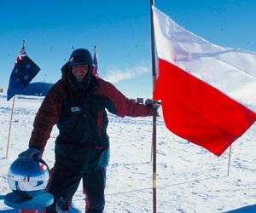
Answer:
[(219, 156), (256, 119), (256, 54), (209, 43), (152, 9), (154, 100), (166, 127)]

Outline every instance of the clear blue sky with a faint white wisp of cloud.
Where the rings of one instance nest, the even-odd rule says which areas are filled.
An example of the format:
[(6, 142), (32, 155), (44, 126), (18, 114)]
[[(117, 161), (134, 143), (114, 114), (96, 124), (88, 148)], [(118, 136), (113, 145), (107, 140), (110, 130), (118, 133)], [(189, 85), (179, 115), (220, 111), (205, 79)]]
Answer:
[[(0, 88), (6, 89), (22, 40), (41, 71), (33, 82), (55, 83), (73, 48), (99, 52), (101, 77), (129, 97), (151, 97), (150, 0), (3, 1)], [(256, 52), (256, 1), (155, 0), (190, 32), (225, 47)]]

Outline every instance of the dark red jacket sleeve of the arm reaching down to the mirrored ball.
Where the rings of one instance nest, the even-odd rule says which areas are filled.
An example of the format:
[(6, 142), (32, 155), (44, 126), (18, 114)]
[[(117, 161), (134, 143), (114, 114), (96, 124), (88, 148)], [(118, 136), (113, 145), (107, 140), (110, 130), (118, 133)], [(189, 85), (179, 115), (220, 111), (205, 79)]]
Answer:
[(33, 123), (29, 147), (38, 148), (42, 153), (53, 126), (61, 112), (61, 89), (56, 84), (49, 90)]

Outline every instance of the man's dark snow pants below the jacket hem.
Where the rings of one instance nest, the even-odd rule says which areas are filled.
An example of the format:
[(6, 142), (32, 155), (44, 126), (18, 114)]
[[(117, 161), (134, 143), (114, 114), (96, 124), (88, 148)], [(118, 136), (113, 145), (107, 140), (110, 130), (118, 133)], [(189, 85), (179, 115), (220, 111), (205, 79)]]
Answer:
[(106, 185), (106, 168), (81, 173), (69, 168), (54, 167), (48, 191), (54, 195), (54, 204), (46, 208), (47, 213), (55, 213), (56, 208), (69, 210), (73, 194), (83, 180), (86, 213), (102, 213), (105, 205), (104, 189)]

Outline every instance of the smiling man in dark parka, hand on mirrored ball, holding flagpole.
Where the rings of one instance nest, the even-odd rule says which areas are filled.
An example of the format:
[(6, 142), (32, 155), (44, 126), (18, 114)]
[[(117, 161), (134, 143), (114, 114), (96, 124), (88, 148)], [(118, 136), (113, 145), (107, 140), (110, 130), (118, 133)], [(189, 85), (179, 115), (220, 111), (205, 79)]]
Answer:
[(75, 49), (62, 66), (62, 77), (46, 95), (34, 120), (29, 148), (19, 158), (41, 158), (55, 124), (55, 165), (49, 193), (54, 204), (46, 212), (67, 212), (83, 180), (86, 212), (103, 212), (106, 167), (109, 160), (108, 112), (119, 117), (154, 114), (154, 105), (130, 101), (113, 84), (92, 75), (87, 49)]

